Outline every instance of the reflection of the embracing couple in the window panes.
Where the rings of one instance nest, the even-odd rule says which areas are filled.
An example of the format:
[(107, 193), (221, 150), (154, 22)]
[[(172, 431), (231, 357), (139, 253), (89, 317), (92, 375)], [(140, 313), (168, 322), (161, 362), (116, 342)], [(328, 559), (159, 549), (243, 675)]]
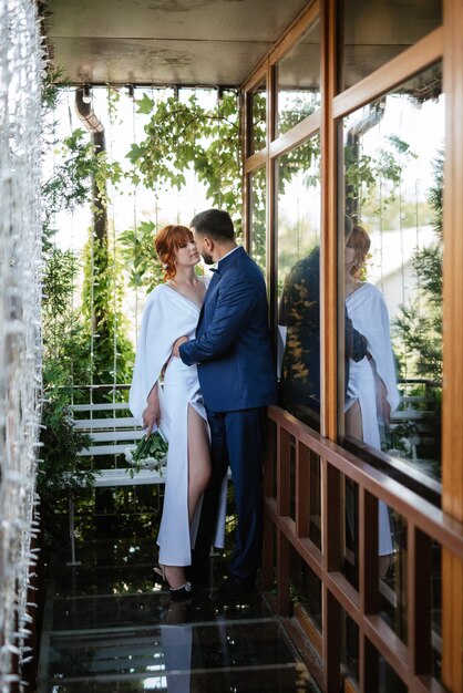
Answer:
[[(381, 449), (380, 431), (390, 425), (399, 404), (389, 316), (381, 292), (362, 281), (370, 238), (344, 217), (344, 415), (346, 433)], [(279, 306), (286, 328), (280, 383), (281, 403), (312, 426), (320, 414), (320, 248), (288, 272)], [(354, 508), (348, 485), (347, 520), (354, 531)], [(384, 576), (393, 552), (388, 508), (379, 503), (379, 571)]]

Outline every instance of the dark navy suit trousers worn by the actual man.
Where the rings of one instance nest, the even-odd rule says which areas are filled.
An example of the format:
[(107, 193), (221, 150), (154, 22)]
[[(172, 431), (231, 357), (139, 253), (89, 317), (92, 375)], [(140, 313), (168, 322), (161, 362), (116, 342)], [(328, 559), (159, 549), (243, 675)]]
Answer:
[(205, 575), (213, 542), (222, 482), (232, 469), (237, 527), (228, 570), (254, 585), (263, 535), (263, 468), (265, 407), (234, 412), (207, 410), (212, 434), (212, 478), (204, 494), (193, 569)]

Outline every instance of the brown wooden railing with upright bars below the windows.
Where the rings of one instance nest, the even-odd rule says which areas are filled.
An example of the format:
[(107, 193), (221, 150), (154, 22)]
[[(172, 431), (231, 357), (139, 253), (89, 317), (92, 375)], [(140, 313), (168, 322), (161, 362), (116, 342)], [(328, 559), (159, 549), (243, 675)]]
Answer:
[[(291, 550), (321, 582), (322, 685), (341, 690), (342, 610), (359, 633), (358, 689), (378, 691), (379, 656), (409, 691), (444, 691), (433, 679), (432, 547), (463, 559), (463, 525), (279, 407), (268, 410), (265, 467), (264, 589), (275, 590), (276, 610), (292, 613)], [(291, 462), (291, 448), (294, 451)], [(315, 469), (318, 473), (313, 473)], [(358, 589), (343, 575), (342, 527), (346, 516), (342, 480), (358, 487)], [(318, 488), (313, 488), (313, 485)], [(321, 536), (313, 531), (313, 499), (319, 497)], [(405, 634), (400, 638), (380, 612), (378, 501), (400, 515), (407, 527), (404, 571)]]

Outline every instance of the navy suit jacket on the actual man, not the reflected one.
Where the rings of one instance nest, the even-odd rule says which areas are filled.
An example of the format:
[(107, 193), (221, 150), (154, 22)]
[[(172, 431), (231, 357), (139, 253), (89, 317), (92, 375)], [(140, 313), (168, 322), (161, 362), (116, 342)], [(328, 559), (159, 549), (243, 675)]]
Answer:
[(232, 412), (276, 403), (265, 281), (243, 248), (218, 262), (196, 339), (182, 344), (179, 354), (184, 363), (198, 364), (208, 410)]

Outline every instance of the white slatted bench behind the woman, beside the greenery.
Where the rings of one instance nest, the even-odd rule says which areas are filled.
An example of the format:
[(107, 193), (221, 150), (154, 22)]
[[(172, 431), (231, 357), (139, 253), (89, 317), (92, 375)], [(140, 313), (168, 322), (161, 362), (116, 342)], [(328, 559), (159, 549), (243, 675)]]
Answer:
[[(95, 480), (92, 487), (111, 488), (115, 486), (141, 486), (146, 484), (164, 484), (165, 478), (158, 472), (148, 468), (135, 470), (125, 461), (125, 451), (133, 447), (143, 437), (144, 432), (136, 420), (130, 414), (126, 402), (104, 404), (75, 404), (71, 407), (73, 424), (76, 431), (91, 437), (91, 445), (82, 448), (80, 457), (92, 457), (94, 461), (103, 456), (113, 456), (114, 465), (102, 469), (95, 468)], [(102, 416), (103, 412), (112, 416)], [(122, 415), (117, 415), (122, 414)], [(123, 464), (121, 465), (121, 456)], [(131, 474), (132, 472), (132, 474)], [(75, 560), (75, 526), (74, 499), (69, 503), (69, 531), (71, 537), (71, 561), (69, 566), (78, 566)]]

